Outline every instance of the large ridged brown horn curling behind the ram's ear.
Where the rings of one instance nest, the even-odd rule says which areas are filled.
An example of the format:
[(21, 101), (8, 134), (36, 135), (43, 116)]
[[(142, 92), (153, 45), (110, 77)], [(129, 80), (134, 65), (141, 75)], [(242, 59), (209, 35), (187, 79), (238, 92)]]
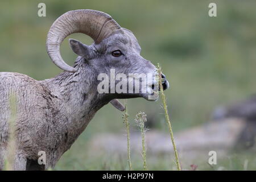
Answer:
[(121, 28), (108, 14), (96, 10), (73, 10), (61, 15), (52, 24), (46, 41), (49, 57), (60, 69), (67, 72), (77, 72), (69, 66), (60, 55), (60, 45), (73, 33), (89, 35), (96, 44)]

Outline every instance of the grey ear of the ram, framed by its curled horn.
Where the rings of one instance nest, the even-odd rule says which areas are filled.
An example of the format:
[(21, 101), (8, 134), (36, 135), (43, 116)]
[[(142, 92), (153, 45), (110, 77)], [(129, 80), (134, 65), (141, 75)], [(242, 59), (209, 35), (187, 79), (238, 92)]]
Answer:
[(90, 46), (87, 46), (78, 40), (75, 39), (69, 39), (69, 46), (75, 52), (77, 55), (84, 57), (86, 59), (89, 59), (92, 57), (92, 49), (90, 49)]

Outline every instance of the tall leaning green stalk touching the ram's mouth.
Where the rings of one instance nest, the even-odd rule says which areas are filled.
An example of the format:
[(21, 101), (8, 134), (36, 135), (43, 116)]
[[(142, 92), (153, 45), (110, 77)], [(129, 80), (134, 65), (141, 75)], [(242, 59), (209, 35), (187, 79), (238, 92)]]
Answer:
[(158, 63), (159, 87), (160, 87), (160, 95), (161, 95), (162, 102), (163, 102), (164, 115), (166, 116), (166, 123), (168, 125), (169, 133), (171, 135), (172, 146), (174, 147), (174, 155), (175, 155), (177, 170), (181, 171), (180, 163), (179, 163), (179, 155), (177, 153), (177, 148), (176, 148), (176, 144), (175, 144), (175, 140), (174, 140), (174, 133), (172, 132), (172, 125), (171, 125), (170, 118), (169, 118), (169, 115), (168, 115), (168, 109), (167, 109), (167, 105), (166, 105), (166, 96), (164, 95), (164, 92), (163, 92), (161, 74), (162, 74), (161, 67)]

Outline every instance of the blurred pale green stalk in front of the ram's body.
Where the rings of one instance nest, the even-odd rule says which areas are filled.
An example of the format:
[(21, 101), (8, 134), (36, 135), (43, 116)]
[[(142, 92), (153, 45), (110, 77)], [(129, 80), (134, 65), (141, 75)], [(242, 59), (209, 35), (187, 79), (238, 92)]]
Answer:
[(14, 155), (16, 150), (15, 144), (15, 121), (16, 121), (16, 96), (10, 93), (10, 118), (9, 118), (9, 139), (7, 147), (7, 156), (5, 160), (5, 170), (12, 171), (14, 165)]

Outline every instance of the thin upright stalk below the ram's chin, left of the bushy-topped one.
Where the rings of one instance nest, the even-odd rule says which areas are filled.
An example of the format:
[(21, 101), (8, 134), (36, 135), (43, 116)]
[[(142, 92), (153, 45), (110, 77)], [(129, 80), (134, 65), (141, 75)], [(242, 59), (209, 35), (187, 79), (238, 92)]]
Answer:
[(131, 167), (131, 151), (130, 151), (130, 123), (128, 121), (128, 111), (127, 111), (127, 100), (125, 100), (125, 113), (123, 115), (123, 123), (125, 123), (126, 126), (126, 133), (127, 133), (127, 158), (128, 158), (128, 164), (130, 171), (133, 170)]

